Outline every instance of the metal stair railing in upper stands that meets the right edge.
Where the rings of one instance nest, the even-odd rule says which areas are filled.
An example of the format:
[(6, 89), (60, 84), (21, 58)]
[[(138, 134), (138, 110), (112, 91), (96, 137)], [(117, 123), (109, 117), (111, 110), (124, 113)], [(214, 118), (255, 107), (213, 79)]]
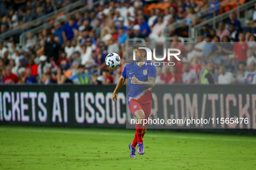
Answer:
[[(237, 13), (237, 18), (241, 19), (240, 13), (244, 13), (244, 19), (241, 19), (241, 25), (246, 25), (246, 19), (249, 18), (249, 13), (248, 9), (252, 8), (254, 6), (254, 3), (256, 3), (256, 0), (250, 0), (249, 2), (237, 6), (237, 8), (231, 9), (230, 11), (227, 11), (226, 13), (220, 14), (219, 16), (216, 16), (214, 18), (208, 19), (198, 25), (195, 25), (194, 27), (191, 28), (191, 38), (196, 41), (196, 38), (200, 34), (200, 31), (203, 29), (203, 26), (208, 24), (209, 26), (212, 26), (213, 29), (216, 29), (216, 24), (218, 22), (223, 22), (225, 19), (229, 18), (230, 13)], [(252, 15), (250, 16), (252, 17)]]

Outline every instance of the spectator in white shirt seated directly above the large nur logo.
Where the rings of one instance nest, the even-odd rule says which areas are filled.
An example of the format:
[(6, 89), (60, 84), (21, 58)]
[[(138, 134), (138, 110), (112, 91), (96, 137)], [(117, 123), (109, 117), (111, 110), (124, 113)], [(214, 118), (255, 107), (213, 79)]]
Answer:
[(150, 41), (164, 42), (165, 38), (161, 37), (161, 32), (164, 30), (165, 26), (165, 23), (163, 23), (163, 17), (158, 16), (157, 23), (152, 27), (149, 35)]

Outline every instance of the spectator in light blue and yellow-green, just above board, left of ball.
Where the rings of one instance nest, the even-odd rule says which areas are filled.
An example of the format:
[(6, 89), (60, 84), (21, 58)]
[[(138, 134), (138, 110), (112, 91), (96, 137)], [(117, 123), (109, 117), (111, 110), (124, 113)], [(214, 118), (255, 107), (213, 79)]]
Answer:
[(90, 83), (91, 77), (88, 70), (85, 69), (85, 66), (80, 64), (78, 71), (68, 79), (71, 80), (74, 84), (84, 85)]

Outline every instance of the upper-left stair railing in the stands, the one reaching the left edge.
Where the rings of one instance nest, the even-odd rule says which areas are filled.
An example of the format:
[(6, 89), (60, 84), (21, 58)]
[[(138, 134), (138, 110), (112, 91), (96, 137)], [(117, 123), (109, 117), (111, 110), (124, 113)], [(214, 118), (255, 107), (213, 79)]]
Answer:
[[(57, 17), (60, 14), (65, 14), (66, 12), (78, 8), (79, 6), (83, 6), (83, 4), (87, 3), (87, 0), (78, 0), (75, 3), (71, 3), (61, 9), (56, 9), (56, 6), (53, 6), (53, 8), (55, 9), (54, 12), (49, 13), (47, 15), (44, 15), (42, 17), (39, 17), (38, 19), (34, 19), (33, 21), (27, 22), (23, 25), (20, 25), (16, 28), (13, 28), (10, 31), (6, 31), (3, 34), (0, 34), (0, 42), (3, 42), (5, 40), (5, 38), (11, 37), (13, 35), (16, 35), (17, 33), (23, 33), (25, 31), (27, 31), (29, 28), (37, 26), (37, 25), (42, 25), (43, 23), (49, 22), (50, 19)], [(61, 17), (61, 16), (59, 16)]]

